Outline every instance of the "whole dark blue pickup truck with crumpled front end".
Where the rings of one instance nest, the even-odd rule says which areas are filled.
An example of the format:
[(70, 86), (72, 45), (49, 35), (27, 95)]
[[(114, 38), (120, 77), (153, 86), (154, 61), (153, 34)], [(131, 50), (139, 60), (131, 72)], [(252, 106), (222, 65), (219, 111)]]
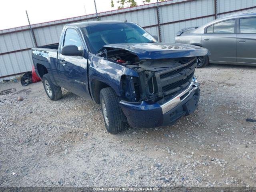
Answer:
[(61, 88), (101, 104), (108, 132), (171, 125), (199, 100), (194, 77), (205, 48), (159, 43), (131, 22), (67, 24), (60, 42), (32, 48), (36, 73), (51, 100)]

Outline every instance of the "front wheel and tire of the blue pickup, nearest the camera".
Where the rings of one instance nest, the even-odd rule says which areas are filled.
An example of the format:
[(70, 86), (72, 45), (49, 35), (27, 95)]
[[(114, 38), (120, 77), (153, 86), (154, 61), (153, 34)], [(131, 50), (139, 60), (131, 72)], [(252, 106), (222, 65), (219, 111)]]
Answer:
[(124, 114), (118, 101), (118, 96), (112, 88), (107, 87), (100, 90), (102, 114), (106, 129), (111, 134), (117, 134), (126, 128), (126, 123), (122, 121)]

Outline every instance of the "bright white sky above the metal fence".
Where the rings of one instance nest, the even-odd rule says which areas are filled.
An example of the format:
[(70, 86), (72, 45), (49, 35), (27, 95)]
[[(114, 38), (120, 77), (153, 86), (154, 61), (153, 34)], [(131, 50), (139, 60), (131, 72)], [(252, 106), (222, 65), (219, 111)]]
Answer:
[[(98, 12), (117, 9), (117, 0), (96, 0)], [(136, 0), (138, 5), (142, 0)], [(156, 2), (156, 0), (151, 0)], [(30, 24), (60, 20), (70, 17), (95, 13), (94, 0), (1, 0), (0, 30), (28, 25), (26, 10)]]

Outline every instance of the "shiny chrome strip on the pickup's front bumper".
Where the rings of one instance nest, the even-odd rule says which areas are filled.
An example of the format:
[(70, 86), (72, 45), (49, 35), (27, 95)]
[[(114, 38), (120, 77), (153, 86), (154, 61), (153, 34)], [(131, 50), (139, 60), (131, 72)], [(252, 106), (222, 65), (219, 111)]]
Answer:
[[(168, 102), (160, 105), (162, 108), (163, 114), (170, 111), (172, 108), (176, 107), (178, 104), (180, 104), (182, 101), (184, 101), (197, 88), (199, 88), (198, 81), (197, 81), (196, 77), (193, 77), (192, 82), (190, 83), (189, 87), (186, 90), (184, 90), (180, 94), (176, 95), (174, 98), (172, 98)], [(188, 94), (181, 100), (180, 98), (187, 92), (188, 92)]]

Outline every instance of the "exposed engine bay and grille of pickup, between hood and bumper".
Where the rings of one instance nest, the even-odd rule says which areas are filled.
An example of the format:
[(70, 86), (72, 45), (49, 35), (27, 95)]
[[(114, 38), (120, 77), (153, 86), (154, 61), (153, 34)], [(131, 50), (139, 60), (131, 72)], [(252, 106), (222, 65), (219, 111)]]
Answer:
[(129, 102), (166, 102), (189, 86), (196, 67), (196, 57), (140, 60), (120, 48), (105, 48), (100, 54), (138, 73), (122, 76), (122, 99)]

